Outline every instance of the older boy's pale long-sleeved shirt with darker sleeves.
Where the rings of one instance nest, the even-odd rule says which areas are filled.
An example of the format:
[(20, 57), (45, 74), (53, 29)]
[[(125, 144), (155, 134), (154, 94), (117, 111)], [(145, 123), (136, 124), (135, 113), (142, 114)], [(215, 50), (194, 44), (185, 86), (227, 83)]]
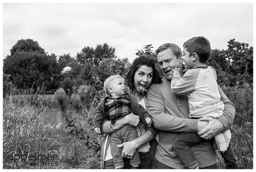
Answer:
[(173, 73), (171, 90), (174, 94), (188, 95), (189, 118), (222, 116), (224, 104), (220, 101), (213, 67), (190, 69), (182, 77), (180, 73)]

